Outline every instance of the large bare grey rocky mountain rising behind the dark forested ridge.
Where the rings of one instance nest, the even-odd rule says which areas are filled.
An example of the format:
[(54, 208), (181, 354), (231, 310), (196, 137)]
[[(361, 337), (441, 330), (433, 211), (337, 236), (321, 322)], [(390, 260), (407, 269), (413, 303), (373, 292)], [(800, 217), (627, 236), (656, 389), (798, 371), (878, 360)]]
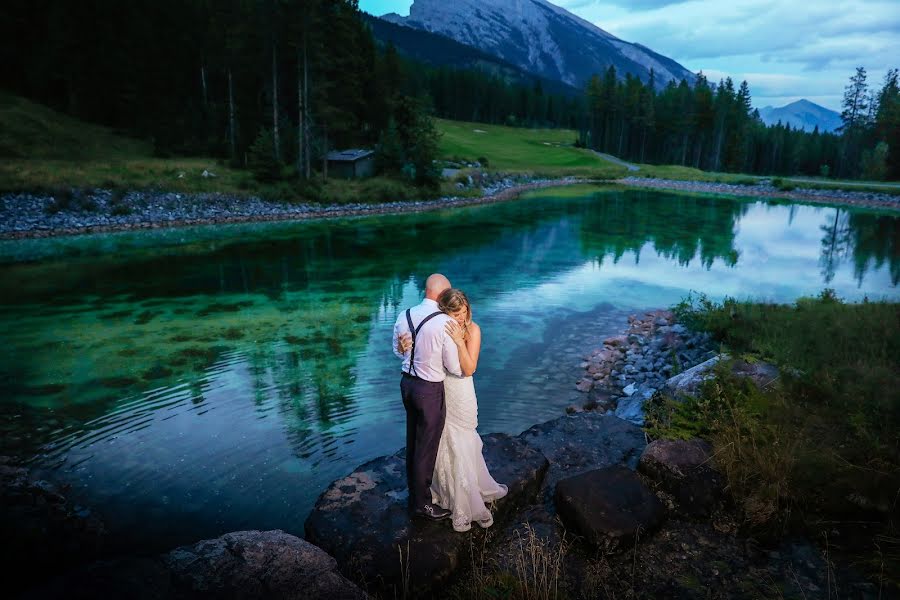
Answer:
[(662, 88), (694, 75), (646, 46), (617, 38), (546, 0), (415, 0), (408, 17), (385, 20), (439, 33), (547, 79), (583, 88), (610, 65), (620, 77), (647, 81), (650, 69)]

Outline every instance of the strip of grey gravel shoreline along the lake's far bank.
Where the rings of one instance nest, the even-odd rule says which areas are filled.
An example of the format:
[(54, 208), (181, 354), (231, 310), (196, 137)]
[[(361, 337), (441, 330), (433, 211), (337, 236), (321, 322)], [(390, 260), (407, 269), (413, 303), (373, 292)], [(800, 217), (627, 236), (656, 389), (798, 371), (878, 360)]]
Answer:
[[(228, 194), (182, 194), (134, 191), (117, 195), (111, 190), (73, 192), (61, 210), (47, 194), (0, 195), (0, 239), (40, 238), (134, 229), (159, 229), (219, 223), (327, 219), (362, 215), (399, 214), (472, 206), (510, 200), (523, 192), (564, 185), (590, 183), (575, 177), (518, 179), (506, 177), (484, 189), (478, 197), (443, 197), (434, 200), (353, 203), (322, 206), (268, 201), (259, 197)], [(681, 190), (803, 202), (842, 204), (900, 211), (900, 196), (843, 190), (803, 189), (786, 192), (769, 183), (754, 186), (626, 177), (613, 183), (637, 188)]]

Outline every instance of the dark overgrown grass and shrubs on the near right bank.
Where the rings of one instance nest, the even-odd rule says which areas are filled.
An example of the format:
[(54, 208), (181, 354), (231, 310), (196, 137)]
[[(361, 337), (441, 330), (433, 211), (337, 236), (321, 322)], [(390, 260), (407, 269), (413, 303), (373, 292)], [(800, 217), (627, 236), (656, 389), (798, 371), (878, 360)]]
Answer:
[[(751, 531), (841, 530), (843, 550), (900, 582), (900, 303), (689, 298), (680, 318), (732, 356), (779, 367), (759, 390), (723, 364), (695, 398), (657, 399), (654, 437), (703, 437)], [(860, 525), (865, 523), (865, 525)], [(834, 545), (834, 543), (832, 543)]]

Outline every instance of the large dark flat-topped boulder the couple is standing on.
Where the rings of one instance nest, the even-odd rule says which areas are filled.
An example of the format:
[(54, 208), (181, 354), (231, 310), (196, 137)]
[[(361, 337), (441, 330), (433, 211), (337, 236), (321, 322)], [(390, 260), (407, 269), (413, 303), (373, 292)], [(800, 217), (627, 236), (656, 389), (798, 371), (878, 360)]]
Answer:
[[(495, 523), (502, 524), (536, 497), (548, 462), (508, 435), (483, 441), (491, 475), (509, 486), (494, 507)], [(472, 534), (454, 532), (449, 520), (410, 519), (404, 455), (377, 458), (335, 481), (306, 520), (308, 540), (333, 555), (349, 577), (386, 597), (429, 594), (467, 564), (471, 544)]]

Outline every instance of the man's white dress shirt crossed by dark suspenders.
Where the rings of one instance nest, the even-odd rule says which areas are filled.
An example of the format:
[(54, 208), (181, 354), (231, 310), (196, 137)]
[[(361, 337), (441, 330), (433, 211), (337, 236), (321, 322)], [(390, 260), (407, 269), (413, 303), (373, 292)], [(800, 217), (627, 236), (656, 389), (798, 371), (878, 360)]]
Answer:
[[(433, 312), (439, 312), (437, 302), (425, 298), (421, 304), (413, 306), (409, 313), (412, 317), (413, 327), (418, 327), (425, 317)], [(462, 369), (459, 366), (459, 351), (456, 344), (445, 330), (446, 324), (450, 321), (450, 317), (444, 313), (432, 317), (419, 333), (416, 334), (416, 364), (415, 373), (420, 379), (426, 381), (443, 381), (447, 372), (453, 373), (457, 377), (462, 377)], [(412, 333), (409, 330), (409, 323), (406, 321), (406, 311), (400, 313), (397, 322), (394, 323), (393, 350), (398, 358), (403, 359), (403, 372), (410, 373), (409, 357), (412, 353), (407, 350), (406, 354), (400, 354), (397, 351), (397, 341), (404, 333)], [(446, 371), (445, 371), (446, 370)]]

